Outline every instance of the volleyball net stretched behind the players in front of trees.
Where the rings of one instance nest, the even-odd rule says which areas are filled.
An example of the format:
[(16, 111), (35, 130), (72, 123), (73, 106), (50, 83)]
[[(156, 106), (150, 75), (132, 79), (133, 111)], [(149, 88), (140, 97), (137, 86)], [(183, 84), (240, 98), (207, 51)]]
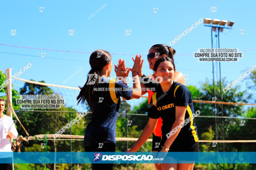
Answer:
[[(79, 94), (79, 88), (21, 78), (15, 78), (12, 84), (12, 108), (19, 119), (16, 122), (19, 138), (13, 142), (16, 150), (84, 151), (84, 131), (90, 122), (92, 113), (88, 110), (88, 105), (77, 105), (76, 97)], [(60, 109), (20, 109), (20, 105), (16, 105), (15, 99), (24, 94), (58, 94), (65, 99), (66, 103)], [(255, 107), (256, 104), (202, 100), (193, 100), (193, 102), (195, 110), (200, 110), (200, 115), (196, 118), (200, 151), (256, 151), (256, 131), (254, 130), (256, 129), (256, 118), (218, 116), (214, 110), (211, 110), (210, 113), (204, 111), (207, 110), (205, 109), (207, 107), (214, 108), (214, 105), (219, 105), (225, 110), (225, 106), (248, 105)], [(147, 106), (147, 97), (145, 96), (140, 99), (121, 101), (116, 123), (116, 151), (125, 151), (132, 147), (141, 135), (148, 121)], [(75, 120), (83, 111), (87, 111), (87, 114), (71, 125), (71, 120)], [(17, 118), (13, 116), (13, 120), (15, 121)], [(58, 138), (54, 138), (54, 134), (63, 127), (65, 130)], [(140, 151), (151, 151), (151, 142), (152, 136)]]

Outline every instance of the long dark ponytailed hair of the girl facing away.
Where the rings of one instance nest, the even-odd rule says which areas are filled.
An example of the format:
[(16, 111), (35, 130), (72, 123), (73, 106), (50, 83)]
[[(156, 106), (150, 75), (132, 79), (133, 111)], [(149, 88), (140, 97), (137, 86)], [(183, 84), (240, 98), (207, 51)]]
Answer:
[(111, 55), (109, 52), (105, 50), (95, 50), (90, 56), (90, 66), (91, 70), (88, 74), (96, 75), (95, 83), (94, 84), (87, 84), (89, 81), (89, 75), (87, 75), (87, 81), (81, 89), (79, 95), (77, 96), (77, 105), (80, 103), (83, 104), (85, 100), (88, 98), (90, 99), (90, 94), (93, 94), (93, 88), (98, 86), (99, 82), (99, 72), (111, 61)]

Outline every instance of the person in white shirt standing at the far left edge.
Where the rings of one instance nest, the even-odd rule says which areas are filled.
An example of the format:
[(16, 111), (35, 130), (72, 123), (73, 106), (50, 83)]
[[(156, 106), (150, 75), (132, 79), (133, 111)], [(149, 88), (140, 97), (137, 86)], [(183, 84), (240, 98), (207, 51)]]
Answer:
[(3, 114), (5, 100), (0, 98), (0, 169), (13, 169), (11, 163), (1, 163), (4, 160), (11, 160), (12, 157), (7, 156), (4, 152), (12, 152), (11, 139), (17, 139), (18, 132), (11, 117)]

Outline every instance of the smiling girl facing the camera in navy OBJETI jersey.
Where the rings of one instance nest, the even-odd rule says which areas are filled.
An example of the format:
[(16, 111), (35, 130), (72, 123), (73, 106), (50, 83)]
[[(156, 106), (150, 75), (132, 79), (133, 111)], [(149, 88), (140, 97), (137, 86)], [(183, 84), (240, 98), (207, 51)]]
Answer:
[[(158, 151), (199, 152), (192, 96), (186, 86), (173, 81), (175, 75), (173, 59), (168, 57), (158, 59), (153, 70), (154, 75), (162, 77), (163, 81), (157, 86), (157, 92), (151, 97), (147, 114), (149, 116), (148, 123), (140, 138), (128, 151), (136, 152), (146, 142), (154, 131), (157, 120), (161, 117), (163, 120), (162, 138)], [(182, 158), (166, 156), (165, 160), (171, 159), (173, 162), (161, 164), (161, 169), (193, 170), (194, 163), (191, 161), (194, 162), (197, 159), (196, 154), (189, 157), (189, 162), (186, 162), (188, 158), (184, 157), (186, 155)]]

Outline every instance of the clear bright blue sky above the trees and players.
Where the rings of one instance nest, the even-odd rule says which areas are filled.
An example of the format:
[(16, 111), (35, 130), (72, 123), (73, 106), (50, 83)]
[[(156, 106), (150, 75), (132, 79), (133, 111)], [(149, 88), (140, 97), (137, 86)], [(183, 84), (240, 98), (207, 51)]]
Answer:
[[(88, 19), (104, 4), (101, 11)], [(212, 6), (217, 7), (216, 12), (211, 12)], [(44, 7), (43, 12), (39, 12), (39, 7)], [(157, 13), (153, 13), (153, 8), (158, 8)], [(255, 1), (5, 1), (0, 6), (3, 16), (0, 43), (53, 50), (93, 52), (104, 49), (110, 53), (147, 54), (152, 45), (168, 45), (198, 19), (212, 18), (235, 22), (232, 30), (220, 33), (220, 47), (255, 49), (254, 11)], [(245, 29), (243, 35), (241, 29)], [(17, 35), (11, 36), (10, 30), (17, 30)], [(69, 36), (68, 30), (74, 30), (74, 36)], [(126, 36), (125, 30), (131, 30), (131, 35)], [(210, 28), (201, 24), (172, 47), (177, 54), (210, 48)], [(40, 58), (41, 52), (46, 52), (44, 58)], [(244, 57), (237, 63), (221, 63), (222, 77), (234, 81), (243, 70), (256, 64), (255, 52), (244, 51)], [(13, 68), (15, 73), (32, 63), (20, 78), (61, 85), (83, 67), (65, 83), (77, 87), (86, 81), (89, 56), (0, 45), (0, 70)], [(112, 61), (117, 63), (122, 58), (132, 67), (132, 56), (112, 55)], [(189, 74), (187, 85), (198, 86), (206, 77), (212, 79), (212, 63), (199, 63), (192, 55), (176, 55), (175, 64), (178, 71)], [(143, 72), (152, 74), (147, 62), (144, 62)], [(115, 76), (114, 71), (111, 76)], [(246, 89), (245, 81), (239, 85)]]

